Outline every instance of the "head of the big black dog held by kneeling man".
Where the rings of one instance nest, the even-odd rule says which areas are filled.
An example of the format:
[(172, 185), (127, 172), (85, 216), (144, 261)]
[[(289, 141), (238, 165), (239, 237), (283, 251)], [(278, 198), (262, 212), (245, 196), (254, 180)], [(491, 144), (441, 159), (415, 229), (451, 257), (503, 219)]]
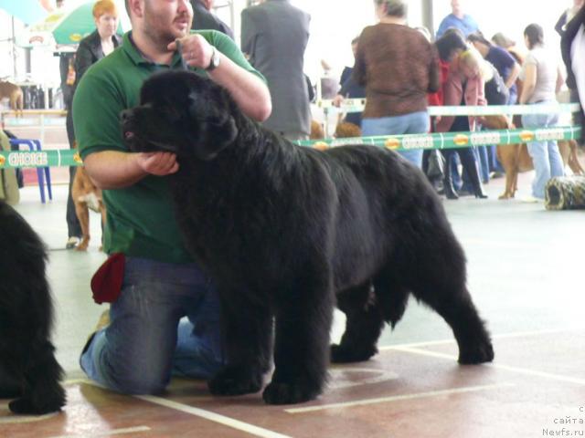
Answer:
[(228, 92), (211, 80), (165, 71), (144, 82), (140, 105), (122, 111), (122, 135), (131, 151), (208, 161), (236, 139), (237, 111)]

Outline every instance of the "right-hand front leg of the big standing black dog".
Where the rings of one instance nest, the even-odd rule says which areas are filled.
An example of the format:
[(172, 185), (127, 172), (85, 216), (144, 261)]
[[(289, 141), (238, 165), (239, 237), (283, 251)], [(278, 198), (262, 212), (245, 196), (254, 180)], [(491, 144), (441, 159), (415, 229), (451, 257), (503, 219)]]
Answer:
[(275, 370), (262, 394), (269, 404), (313, 400), (327, 378), (335, 302), (331, 282), (302, 281), (290, 292), (276, 315)]

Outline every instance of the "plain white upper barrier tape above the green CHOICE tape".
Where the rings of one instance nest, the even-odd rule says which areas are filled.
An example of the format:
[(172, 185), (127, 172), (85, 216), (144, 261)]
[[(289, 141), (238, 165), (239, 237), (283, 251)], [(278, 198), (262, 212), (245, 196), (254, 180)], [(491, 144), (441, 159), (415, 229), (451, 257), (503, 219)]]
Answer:
[[(341, 107), (335, 107), (333, 100), (321, 100), (318, 107), (327, 112), (362, 112), (366, 99), (345, 99)], [(487, 105), (487, 106), (445, 106), (428, 107), (430, 116), (495, 116), (498, 114), (549, 114), (578, 112), (579, 103), (554, 103), (541, 105)]]

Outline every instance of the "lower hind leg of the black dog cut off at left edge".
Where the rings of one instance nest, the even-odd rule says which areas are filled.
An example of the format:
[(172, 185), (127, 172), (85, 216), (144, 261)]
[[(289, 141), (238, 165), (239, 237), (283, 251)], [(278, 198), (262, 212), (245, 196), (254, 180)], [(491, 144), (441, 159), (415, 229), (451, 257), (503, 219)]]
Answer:
[(65, 390), (59, 384), (63, 370), (55, 359), (48, 341), (37, 342), (27, 352), (22, 396), (8, 407), (15, 413), (42, 414), (59, 411), (65, 404)]

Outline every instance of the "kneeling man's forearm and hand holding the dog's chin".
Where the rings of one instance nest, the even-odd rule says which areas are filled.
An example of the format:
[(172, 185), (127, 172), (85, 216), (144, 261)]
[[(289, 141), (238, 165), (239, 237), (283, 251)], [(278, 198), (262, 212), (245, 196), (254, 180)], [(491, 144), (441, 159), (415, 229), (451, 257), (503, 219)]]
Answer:
[(163, 176), (179, 169), (176, 155), (170, 152), (100, 151), (90, 153), (83, 164), (91, 181), (100, 189), (121, 189), (146, 175)]

